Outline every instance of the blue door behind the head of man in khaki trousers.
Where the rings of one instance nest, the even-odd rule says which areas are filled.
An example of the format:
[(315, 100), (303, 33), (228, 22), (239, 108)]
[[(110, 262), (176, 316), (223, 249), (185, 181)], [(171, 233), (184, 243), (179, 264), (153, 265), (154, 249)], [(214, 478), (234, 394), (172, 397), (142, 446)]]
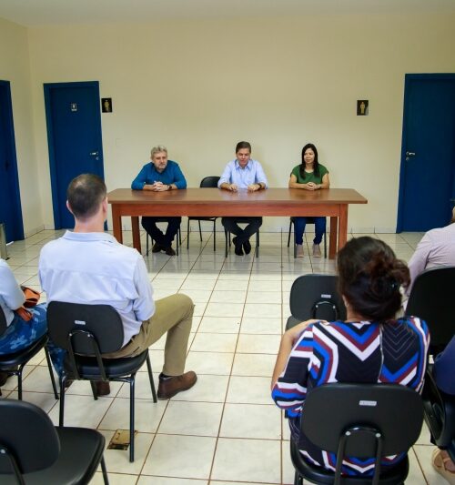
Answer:
[(45, 116), (54, 223), (71, 228), (69, 183), (85, 173), (104, 178), (98, 82), (45, 84)]

